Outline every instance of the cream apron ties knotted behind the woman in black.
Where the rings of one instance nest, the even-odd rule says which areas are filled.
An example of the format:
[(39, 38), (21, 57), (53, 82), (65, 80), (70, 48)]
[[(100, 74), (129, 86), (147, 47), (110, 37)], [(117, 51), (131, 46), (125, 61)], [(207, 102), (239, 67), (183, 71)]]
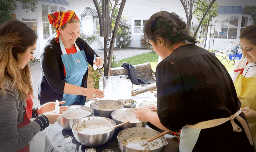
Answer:
[(234, 119), (236, 118), (243, 126), (246, 136), (247, 136), (248, 140), (250, 141), (250, 144), (253, 145), (253, 140), (252, 140), (252, 136), (251, 136), (249, 127), (248, 127), (246, 121), (241, 116), (239, 116), (239, 114), (241, 114), (241, 112), (242, 112), (242, 110), (240, 109), (239, 111), (237, 111), (234, 115), (231, 115), (230, 117), (202, 121), (202, 122), (198, 122), (197, 124), (194, 124), (194, 125), (186, 124), (186, 126), (189, 128), (194, 128), (194, 129), (206, 129), (206, 128), (211, 128), (211, 127), (221, 125), (221, 124), (227, 122), (228, 120), (230, 120), (230, 122), (233, 126), (233, 131), (241, 132), (242, 129), (234, 121)]

